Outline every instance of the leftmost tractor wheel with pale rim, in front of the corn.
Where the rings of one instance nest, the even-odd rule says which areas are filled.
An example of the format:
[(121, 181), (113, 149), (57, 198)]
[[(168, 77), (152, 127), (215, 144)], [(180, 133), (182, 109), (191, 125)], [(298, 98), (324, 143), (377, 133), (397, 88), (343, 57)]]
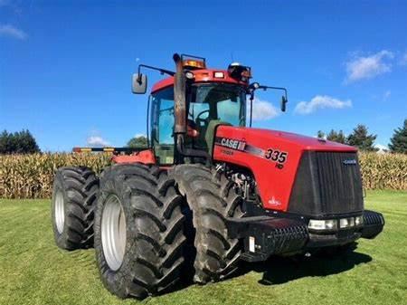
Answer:
[(61, 167), (52, 189), (52, 229), (62, 249), (93, 246), (93, 220), (99, 179), (88, 167)]

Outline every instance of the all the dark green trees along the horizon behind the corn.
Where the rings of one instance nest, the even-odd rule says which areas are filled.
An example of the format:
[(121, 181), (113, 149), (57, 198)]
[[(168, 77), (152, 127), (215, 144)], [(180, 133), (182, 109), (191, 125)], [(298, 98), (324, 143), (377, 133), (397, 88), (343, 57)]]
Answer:
[[(343, 130), (332, 129), (327, 134), (319, 130), (317, 137), (355, 146), (364, 151), (378, 150), (374, 147), (377, 135), (370, 134), (367, 127), (362, 124), (357, 125), (348, 136), (345, 136)], [(127, 146), (130, 148), (147, 148), (147, 137), (130, 138)], [(394, 129), (388, 147), (391, 152), (407, 154), (407, 119), (404, 119), (402, 127)], [(33, 135), (26, 129), (14, 133), (4, 130), (0, 134), (0, 154), (32, 154), (37, 152), (41, 152), (41, 150)]]

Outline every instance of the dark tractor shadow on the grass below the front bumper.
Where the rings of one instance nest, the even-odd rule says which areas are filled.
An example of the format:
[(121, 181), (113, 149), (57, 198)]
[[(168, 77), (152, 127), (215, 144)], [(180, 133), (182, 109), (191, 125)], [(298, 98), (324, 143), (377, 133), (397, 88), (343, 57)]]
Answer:
[(358, 264), (371, 261), (371, 256), (356, 252), (331, 257), (318, 254), (311, 257), (271, 257), (267, 262), (246, 264), (242, 272), (262, 272), (260, 284), (278, 285), (304, 277), (345, 272)]

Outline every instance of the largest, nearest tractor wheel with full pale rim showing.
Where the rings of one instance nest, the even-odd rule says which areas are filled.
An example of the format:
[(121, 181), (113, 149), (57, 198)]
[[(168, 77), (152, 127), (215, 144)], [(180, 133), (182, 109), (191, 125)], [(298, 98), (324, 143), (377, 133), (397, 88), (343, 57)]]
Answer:
[(170, 289), (184, 263), (183, 198), (158, 167), (122, 164), (100, 177), (95, 250), (101, 280), (119, 298)]

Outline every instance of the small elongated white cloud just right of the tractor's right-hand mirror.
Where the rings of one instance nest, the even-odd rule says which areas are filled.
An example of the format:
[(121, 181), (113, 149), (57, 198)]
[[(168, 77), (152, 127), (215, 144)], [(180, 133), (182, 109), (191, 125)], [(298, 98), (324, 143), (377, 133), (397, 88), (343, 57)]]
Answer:
[(343, 109), (352, 107), (352, 100), (337, 100), (327, 95), (316, 95), (312, 100), (298, 102), (294, 112), (309, 114), (318, 109)]

